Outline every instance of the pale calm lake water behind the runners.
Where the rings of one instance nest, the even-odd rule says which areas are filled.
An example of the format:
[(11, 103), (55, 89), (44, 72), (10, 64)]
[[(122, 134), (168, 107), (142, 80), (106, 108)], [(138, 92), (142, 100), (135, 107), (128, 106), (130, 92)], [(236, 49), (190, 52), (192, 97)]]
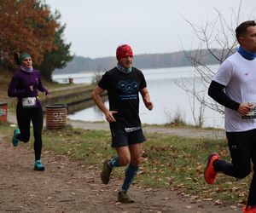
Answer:
[[(217, 69), (218, 66), (212, 66)], [(167, 124), (173, 118), (183, 118), (187, 124), (195, 124), (195, 118), (198, 118), (201, 104), (193, 99), (178, 84), (183, 83), (186, 87), (195, 90), (202, 90), (207, 99), (211, 99), (207, 95), (207, 89), (203, 87), (201, 78), (195, 77), (195, 68), (192, 66), (171, 67), (160, 69), (143, 70), (143, 74), (148, 84), (148, 91), (151, 100), (154, 103), (154, 109), (148, 111), (140, 100), (140, 118), (143, 124)], [(93, 72), (84, 72), (66, 75), (54, 75), (53, 80), (60, 82), (64, 78), (73, 78), (73, 83), (90, 83), (94, 77)], [(195, 110), (191, 110), (195, 102)], [(108, 102), (106, 103), (108, 106)], [(97, 107), (90, 107), (73, 114), (69, 114), (68, 118), (83, 121), (105, 121), (105, 117)], [(224, 128), (224, 115), (205, 108), (204, 127)]]

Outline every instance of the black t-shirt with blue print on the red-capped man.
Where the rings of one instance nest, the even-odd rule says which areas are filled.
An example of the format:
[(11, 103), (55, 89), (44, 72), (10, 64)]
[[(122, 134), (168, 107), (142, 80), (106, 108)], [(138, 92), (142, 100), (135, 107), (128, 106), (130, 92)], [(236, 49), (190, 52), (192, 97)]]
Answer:
[(130, 73), (120, 72), (116, 67), (105, 72), (98, 86), (108, 91), (109, 110), (116, 122), (111, 128), (137, 127), (139, 118), (139, 90), (147, 87), (143, 72), (132, 67)]

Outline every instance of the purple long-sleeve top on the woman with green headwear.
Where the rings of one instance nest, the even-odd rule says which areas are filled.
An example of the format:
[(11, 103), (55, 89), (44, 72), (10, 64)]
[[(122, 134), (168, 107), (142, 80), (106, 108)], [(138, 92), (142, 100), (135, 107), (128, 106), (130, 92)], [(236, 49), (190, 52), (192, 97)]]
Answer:
[[(33, 90), (30, 89), (33, 87)], [(48, 90), (44, 88), (41, 81), (40, 72), (38, 70), (32, 70), (32, 72), (25, 72), (21, 69), (15, 72), (13, 78), (9, 83), (8, 95), (9, 97), (17, 97), (20, 101), (26, 97), (37, 97), (38, 90), (48, 94)], [(41, 103), (38, 100), (38, 107), (41, 107)]]

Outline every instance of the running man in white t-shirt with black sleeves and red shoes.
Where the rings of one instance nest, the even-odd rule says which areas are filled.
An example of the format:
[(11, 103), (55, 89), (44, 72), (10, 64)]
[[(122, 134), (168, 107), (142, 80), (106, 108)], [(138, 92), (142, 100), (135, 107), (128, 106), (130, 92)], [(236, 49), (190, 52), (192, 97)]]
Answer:
[(231, 163), (211, 153), (204, 172), (208, 184), (214, 184), (218, 172), (236, 178), (251, 173), (253, 179), (247, 206), (242, 212), (256, 213), (256, 23), (247, 20), (236, 27), (240, 44), (234, 55), (224, 60), (210, 84), (208, 95), (225, 107), (225, 130)]

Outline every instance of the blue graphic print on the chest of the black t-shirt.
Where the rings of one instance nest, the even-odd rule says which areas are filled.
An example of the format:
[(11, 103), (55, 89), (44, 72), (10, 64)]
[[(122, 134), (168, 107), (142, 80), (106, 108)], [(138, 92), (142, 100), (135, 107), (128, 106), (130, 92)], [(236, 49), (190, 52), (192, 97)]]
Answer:
[(118, 85), (119, 90), (122, 91), (123, 95), (119, 95), (120, 100), (131, 100), (137, 99), (137, 82), (128, 81), (119, 81)]

